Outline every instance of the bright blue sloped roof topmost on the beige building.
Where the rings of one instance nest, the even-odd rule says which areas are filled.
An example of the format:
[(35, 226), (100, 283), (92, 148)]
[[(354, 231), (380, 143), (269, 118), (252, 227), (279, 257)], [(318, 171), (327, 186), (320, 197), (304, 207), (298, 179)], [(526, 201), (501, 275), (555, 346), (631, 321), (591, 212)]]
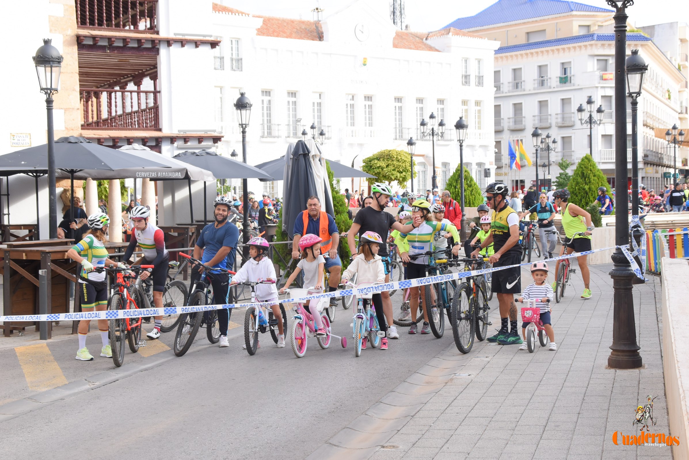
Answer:
[(522, 21), (553, 14), (573, 11), (610, 12), (577, 1), (566, 0), (498, 0), (482, 12), (470, 17), (455, 19), (444, 28), (453, 27), (460, 30), (484, 27), (505, 22)]

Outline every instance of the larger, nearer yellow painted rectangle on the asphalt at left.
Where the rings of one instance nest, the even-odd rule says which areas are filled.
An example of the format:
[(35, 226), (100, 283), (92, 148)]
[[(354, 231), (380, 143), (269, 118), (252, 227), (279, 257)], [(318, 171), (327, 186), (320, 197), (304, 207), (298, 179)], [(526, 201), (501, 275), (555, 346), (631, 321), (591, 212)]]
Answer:
[(14, 348), (14, 352), (30, 390), (45, 391), (68, 383), (48, 345), (21, 346)]

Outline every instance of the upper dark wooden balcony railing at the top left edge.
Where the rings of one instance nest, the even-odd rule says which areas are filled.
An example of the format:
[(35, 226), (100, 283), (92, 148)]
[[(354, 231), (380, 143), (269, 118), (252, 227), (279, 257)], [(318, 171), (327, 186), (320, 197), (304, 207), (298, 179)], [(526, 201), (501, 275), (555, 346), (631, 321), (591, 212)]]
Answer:
[(79, 29), (158, 33), (158, 0), (75, 0)]

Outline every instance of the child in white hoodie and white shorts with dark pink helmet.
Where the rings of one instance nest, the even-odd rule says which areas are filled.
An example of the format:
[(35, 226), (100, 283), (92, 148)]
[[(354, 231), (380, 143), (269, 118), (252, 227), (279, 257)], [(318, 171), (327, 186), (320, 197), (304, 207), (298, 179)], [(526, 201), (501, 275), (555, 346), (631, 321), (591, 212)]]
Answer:
[[(232, 284), (242, 283), (245, 281), (275, 281), (275, 267), (273, 262), (267, 258), (269, 244), (265, 238), (256, 236), (249, 240), (249, 256), (251, 259), (239, 269), (236, 275), (232, 277)], [(278, 320), (278, 348), (285, 347), (285, 331), (282, 328), (282, 315), (280, 315), (280, 302), (278, 302), (278, 289), (275, 284), (256, 284), (256, 301), (266, 302), (270, 305), (273, 315)], [(259, 344), (260, 346), (260, 344)], [(244, 344), (242, 348), (246, 349)]]

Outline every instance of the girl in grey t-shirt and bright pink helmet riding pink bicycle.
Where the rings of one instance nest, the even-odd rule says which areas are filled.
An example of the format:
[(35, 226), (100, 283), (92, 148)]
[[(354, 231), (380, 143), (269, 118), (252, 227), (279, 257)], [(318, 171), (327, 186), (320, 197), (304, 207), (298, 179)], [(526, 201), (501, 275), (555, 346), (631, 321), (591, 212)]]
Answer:
[[(318, 294), (323, 292), (323, 267), (325, 266), (325, 258), (320, 255), (320, 242), (323, 239), (320, 236), (313, 235), (312, 233), (307, 233), (302, 236), (299, 240), (299, 250), (302, 253), (302, 258), (296, 266), (296, 269), (289, 275), (287, 282), (285, 282), (285, 287), (280, 289), (280, 294), (285, 293), (285, 289), (289, 289), (289, 286), (294, 282), (300, 272), (304, 272), (304, 287), (313, 288), (309, 290), (309, 293)], [(311, 300), (308, 300), (304, 304), (304, 308), (311, 316), (313, 316), (313, 321), (316, 322), (316, 335), (320, 337), (325, 337), (327, 332), (323, 327), (323, 323), (320, 320), (320, 312), (318, 309), (311, 311), (309, 305)], [(317, 305), (318, 300), (313, 300), (313, 305)], [(316, 308), (316, 307), (314, 307)]]

